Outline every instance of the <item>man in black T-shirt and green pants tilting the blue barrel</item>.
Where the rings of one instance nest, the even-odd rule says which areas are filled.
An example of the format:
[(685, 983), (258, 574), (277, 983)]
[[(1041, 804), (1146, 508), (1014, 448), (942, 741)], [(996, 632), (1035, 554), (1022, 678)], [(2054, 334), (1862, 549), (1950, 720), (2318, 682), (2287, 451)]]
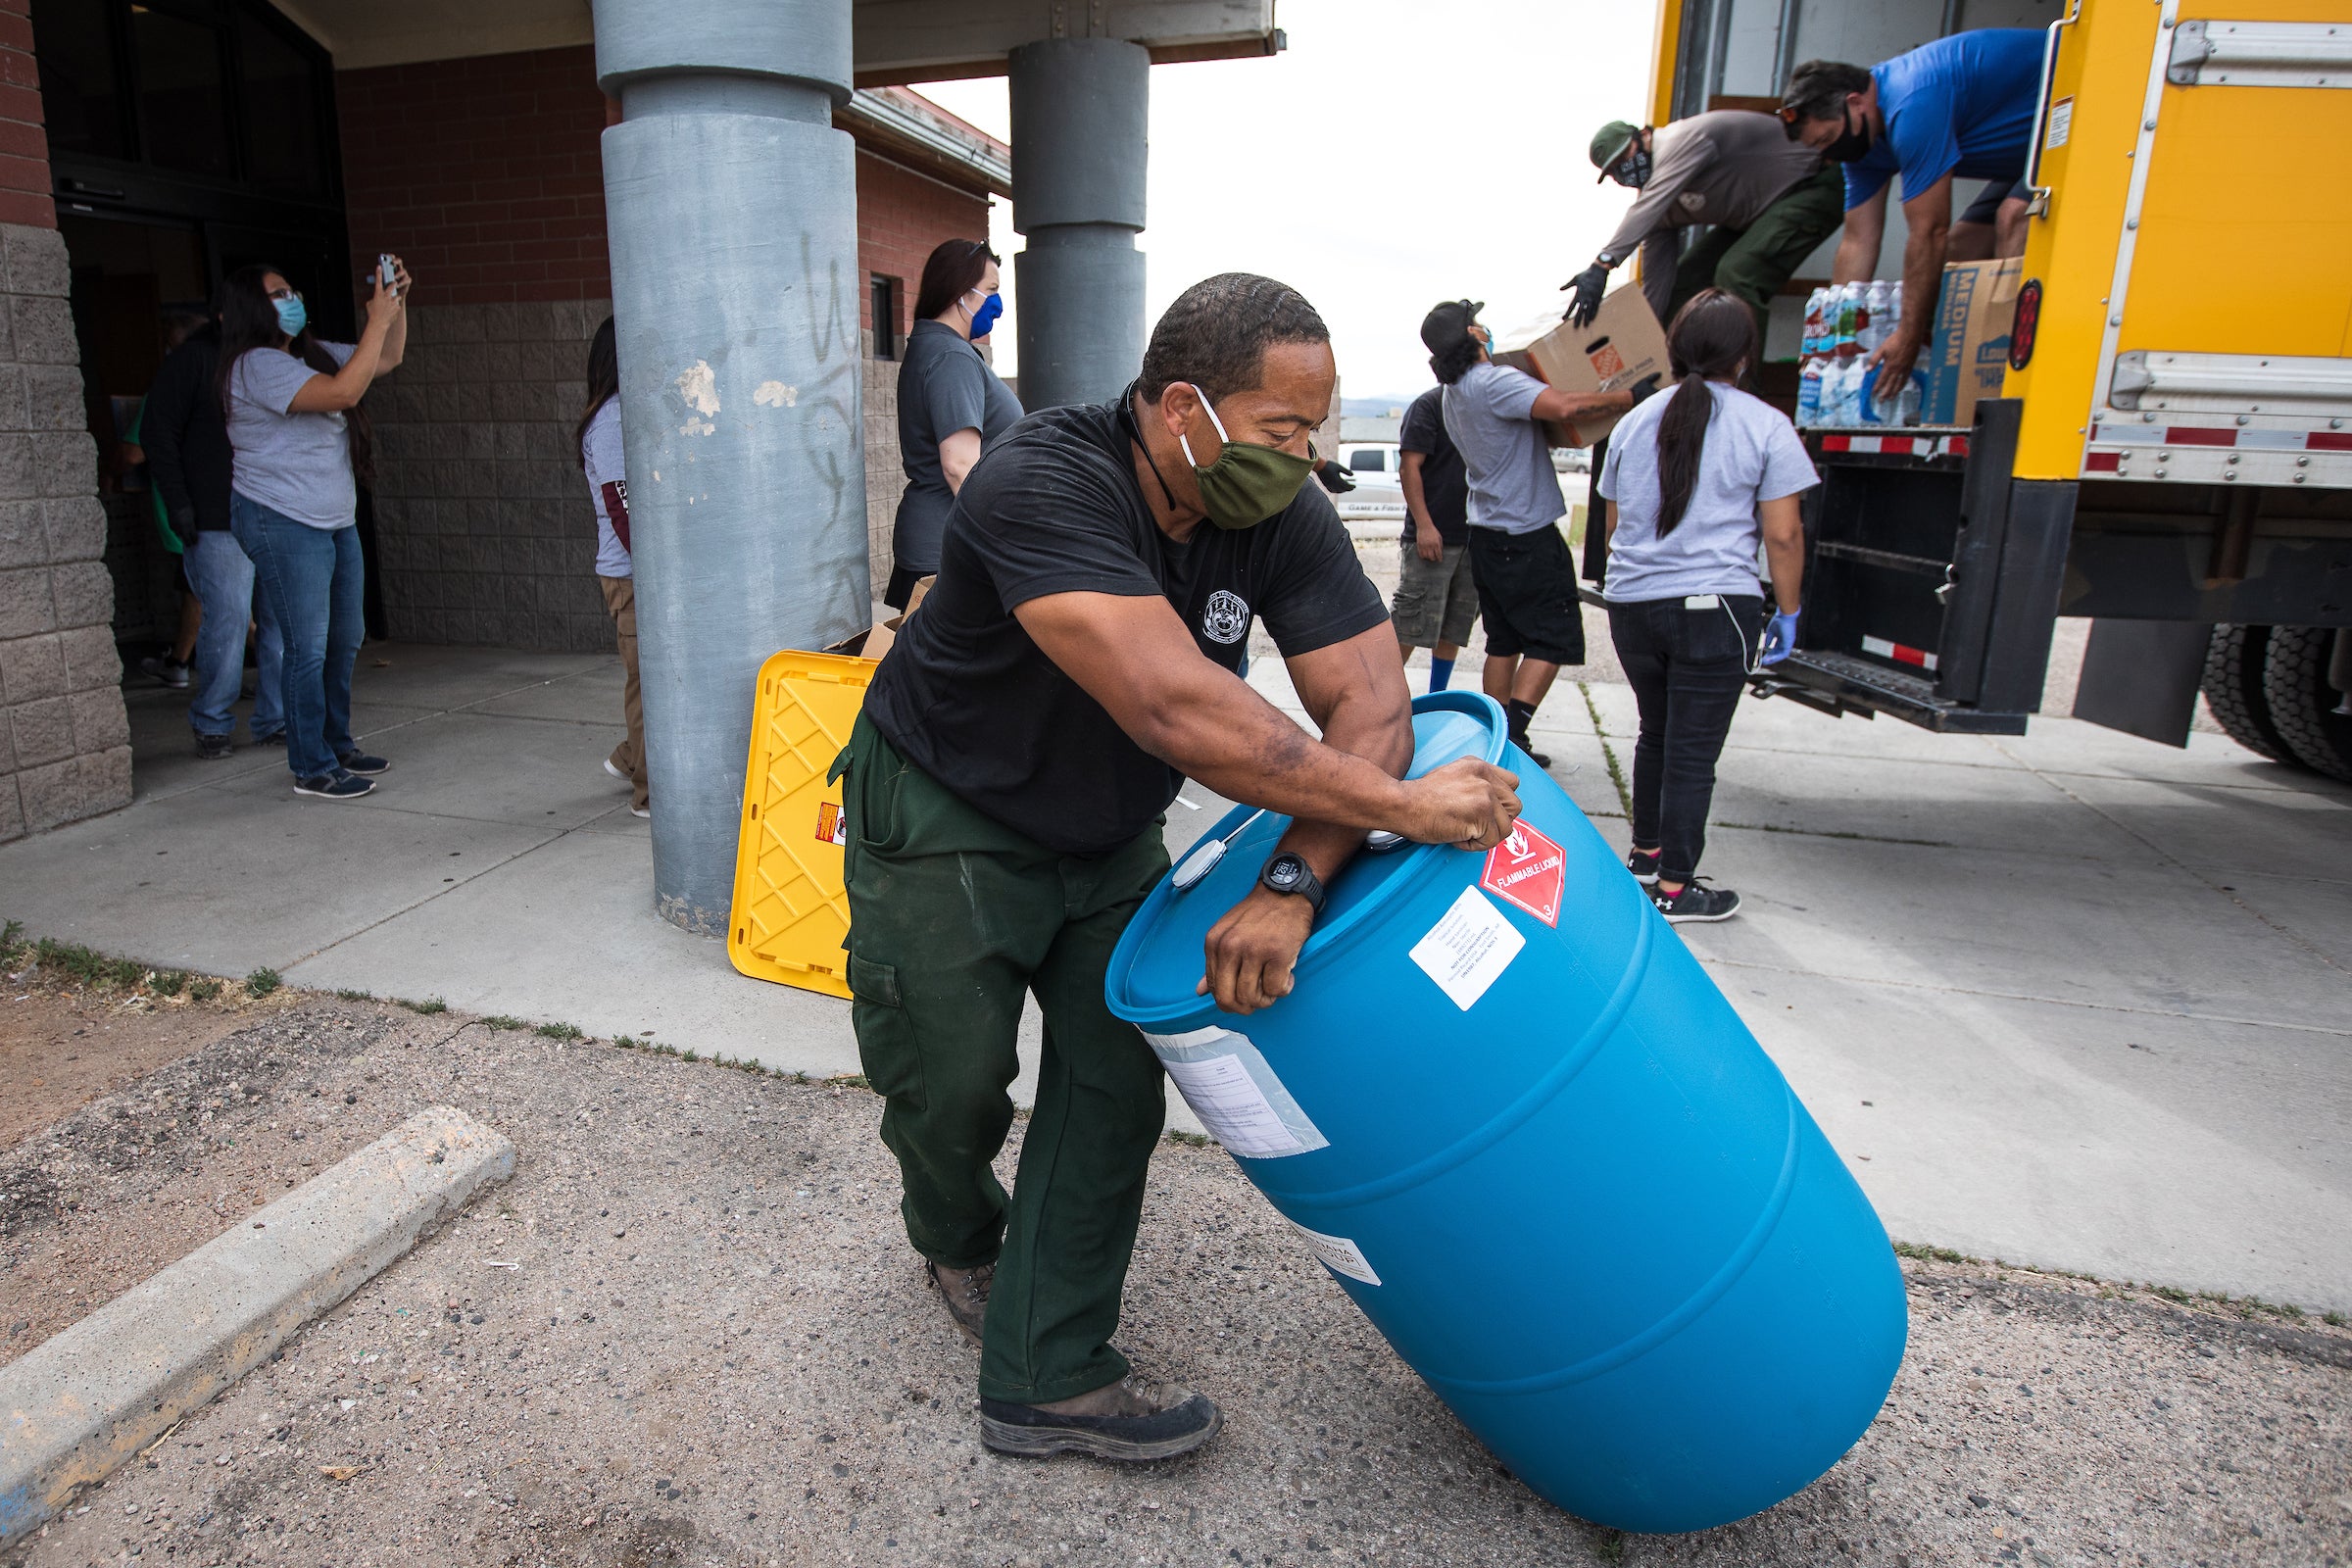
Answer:
[[(1367, 830), (1498, 844), (1517, 778), (1418, 780), (1395, 635), (1308, 433), (1331, 334), (1270, 277), (1188, 289), (1110, 404), (1014, 425), (964, 480), (938, 583), (875, 672), (849, 748), (849, 987), (908, 1239), (981, 1340), (981, 1439), (1160, 1460), (1209, 1441), (1200, 1394), (1110, 1345), (1167, 1117), (1160, 1060), (1103, 1001), (1110, 952), (1167, 872), (1183, 780), (1296, 818), (1207, 938), (1202, 992), (1291, 990), (1322, 886)], [(1263, 616), (1322, 738), (1235, 670)], [(1044, 1013), (1037, 1107), (1007, 1194), (990, 1161), (1023, 994)]]

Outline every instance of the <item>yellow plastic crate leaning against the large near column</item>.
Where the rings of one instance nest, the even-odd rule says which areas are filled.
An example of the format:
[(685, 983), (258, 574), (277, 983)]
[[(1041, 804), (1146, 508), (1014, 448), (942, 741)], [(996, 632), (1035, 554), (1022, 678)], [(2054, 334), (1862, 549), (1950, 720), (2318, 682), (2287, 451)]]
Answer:
[(877, 661), (786, 649), (760, 665), (736, 839), (727, 957), (753, 980), (849, 997), (849, 893), (842, 889), (842, 785), (826, 783), (849, 745)]

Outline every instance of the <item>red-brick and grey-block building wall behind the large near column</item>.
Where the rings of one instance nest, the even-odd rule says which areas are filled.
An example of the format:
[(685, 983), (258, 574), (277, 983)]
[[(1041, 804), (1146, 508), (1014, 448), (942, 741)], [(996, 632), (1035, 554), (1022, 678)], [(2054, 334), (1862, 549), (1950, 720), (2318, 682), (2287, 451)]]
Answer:
[[(12, 0), (0, 0), (0, 7)], [(572, 451), (588, 336), (612, 310), (593, 49), (336, 73), (353, 270), (416, 273), (409, 355), (374, 393), (376, 552), (393, 637), (612, 649), (595, 512)], [(397, 155), (376, 160), (372, 148)], [(988, 197), (858, 150), (858, 261), (898, 277), (988, 233)], [(861, 289), (870, 315), (870, 292)], [(870, 329), (873, 322), (868, 320)], [(898, 367), (866, 341), (866, 524), (889, 581)]]

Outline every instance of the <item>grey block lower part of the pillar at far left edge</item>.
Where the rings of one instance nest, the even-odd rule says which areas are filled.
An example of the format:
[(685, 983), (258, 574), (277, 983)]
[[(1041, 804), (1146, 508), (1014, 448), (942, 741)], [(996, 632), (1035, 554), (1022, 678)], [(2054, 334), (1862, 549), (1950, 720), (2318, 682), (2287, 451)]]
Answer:
[(129, 804), (113, 616), (66, 242), (0, 221), (0, 842)]

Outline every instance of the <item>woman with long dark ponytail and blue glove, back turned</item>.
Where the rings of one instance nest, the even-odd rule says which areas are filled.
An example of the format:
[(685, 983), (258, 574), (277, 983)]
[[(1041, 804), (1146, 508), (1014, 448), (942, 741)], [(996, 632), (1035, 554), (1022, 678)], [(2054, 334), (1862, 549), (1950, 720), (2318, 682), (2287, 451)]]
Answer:
[[(1757, 360), (1755, 313), (1708, 289), (1665, 329), (1672, 397), (1609, 437), (1599, 494), (1609, 541), (1609, 637), (1642, 710), (1632, 750), (1632, 856), (1670, 922), (1731, 919), (1740, 896), (1698, 879), (1715, 759), (1740, 686), (1797, 644), (1804, 524), (1820, 482), (1795, 425), (1738, 390)], [(1778, 614), (1766, 623), (1757, 545)]]

